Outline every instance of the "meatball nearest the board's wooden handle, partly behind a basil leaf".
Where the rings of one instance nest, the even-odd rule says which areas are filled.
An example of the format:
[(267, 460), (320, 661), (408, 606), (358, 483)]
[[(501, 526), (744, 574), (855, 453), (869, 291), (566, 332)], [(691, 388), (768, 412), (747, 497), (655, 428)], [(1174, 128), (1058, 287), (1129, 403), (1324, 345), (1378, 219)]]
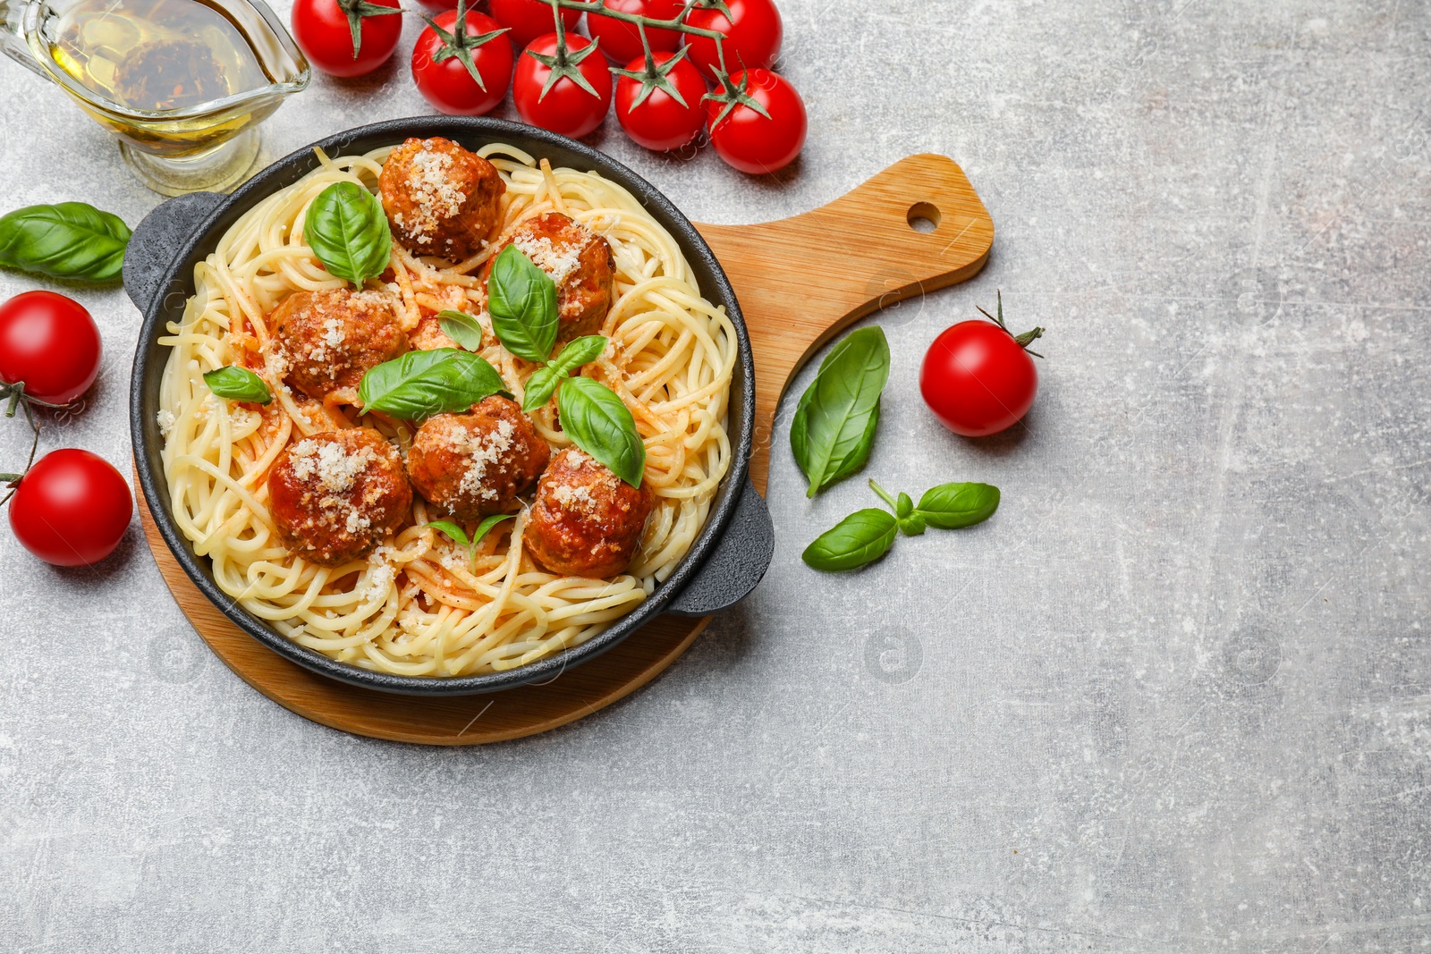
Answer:
[[(511, 242), (557, 283), (557, 343), (595, 335), (615, 300), (611, 243), (560, 212), (528, 219)], [(505, 246), (504, 246), (505, 247)]]

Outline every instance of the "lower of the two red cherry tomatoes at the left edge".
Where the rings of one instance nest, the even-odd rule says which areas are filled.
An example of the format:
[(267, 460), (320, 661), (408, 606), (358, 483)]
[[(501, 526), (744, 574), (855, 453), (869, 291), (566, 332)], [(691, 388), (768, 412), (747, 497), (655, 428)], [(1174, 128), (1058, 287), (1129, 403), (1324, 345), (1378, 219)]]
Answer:
[(10, 529), (56, 566), (97, 564), (119, 546), (135, 505), (104, 458), (66, 448), (40, 458), (10, 498)]

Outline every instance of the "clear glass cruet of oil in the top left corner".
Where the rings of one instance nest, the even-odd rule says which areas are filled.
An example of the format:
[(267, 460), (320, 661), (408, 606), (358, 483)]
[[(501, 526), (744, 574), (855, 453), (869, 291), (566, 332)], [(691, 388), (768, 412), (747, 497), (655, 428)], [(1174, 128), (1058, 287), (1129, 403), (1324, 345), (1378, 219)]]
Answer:
[(155, 192), (226, 192), (258, 124), (308, 86), (308, 60), (262, 0), (0, 0), (0, 46), (119, 137)]

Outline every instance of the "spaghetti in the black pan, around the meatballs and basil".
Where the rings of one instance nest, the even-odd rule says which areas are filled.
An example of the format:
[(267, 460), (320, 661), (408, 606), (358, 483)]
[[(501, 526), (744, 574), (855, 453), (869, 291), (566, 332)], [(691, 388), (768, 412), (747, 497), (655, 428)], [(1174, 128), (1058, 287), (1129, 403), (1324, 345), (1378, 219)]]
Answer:
[[(611, 579), (550, 574), (522, 546), (525, 509), (468, 554), (428, 526), (445, 515), (421, 496), (366, 559), (329, 568), (290, 554), (275, 529), (266, 483), (285, 446), (361, 422), (406, 453), (415, 431), (285, 386), (286, 368), (268, 346), (265, 323), (292, 292), (343, 286), (305, 245), (305, 212), (335, 182), (376, 189), (388, 152), (319, 153), (315, 172), (253, 206), (196, 266), (196, 292), (160, 339), (172, 349), (159, 416), (173, 518), (195, 552), (212, 562), (219, 588), (301, 645), (399, 675), (511, 669), (602, 632), (685, 556), (731, 463), (726, 415), (736, 329), (724, 309), (701, 296), (675, 239), (627, 190), (597, 173), (552, 169), (511, 146), (485, 146), (478, 154), (507, 185), (498, 240), (456, 265), (395, 243), (392, 280), (369, 279), (366, 287), (392, 296), (406, 332), (444, 309), (475, 315), (487, 332), (481, 355), (521, 400), (537, 366), (491, 333), (477, 272), (518, 225), (545, 212), (564, 212), (610, 242), (615, 297), (601, 333), (612, 346), (585, 373), (621, 396), (645, 442), (644, 483), (657, 503), (635, 561)], [(203, 373), (232, 363), (265, 376), (275, 400), (258, 408), (210, 393)], [(532, 422), (554, 452), (570, 446), (551, 406), (534, 412)]]

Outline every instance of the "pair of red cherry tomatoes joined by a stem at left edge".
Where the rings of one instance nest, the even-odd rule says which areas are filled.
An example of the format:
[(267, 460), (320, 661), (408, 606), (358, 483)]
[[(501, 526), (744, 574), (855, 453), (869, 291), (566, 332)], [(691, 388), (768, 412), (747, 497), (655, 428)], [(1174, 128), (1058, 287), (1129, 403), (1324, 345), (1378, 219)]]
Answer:
[[(73, 406), (99, 375), (99, 326), (79, 302), (54, 292), (23, 292), (0, 305), (0, 396), (9, 413), (31, 405)], [(124, 478), (104, 458), (63, 448), (34, 461), (24, 473), (0, 475), (16, 539), (57, 566), (84, 566), (114, 552), (133, 502)]]

